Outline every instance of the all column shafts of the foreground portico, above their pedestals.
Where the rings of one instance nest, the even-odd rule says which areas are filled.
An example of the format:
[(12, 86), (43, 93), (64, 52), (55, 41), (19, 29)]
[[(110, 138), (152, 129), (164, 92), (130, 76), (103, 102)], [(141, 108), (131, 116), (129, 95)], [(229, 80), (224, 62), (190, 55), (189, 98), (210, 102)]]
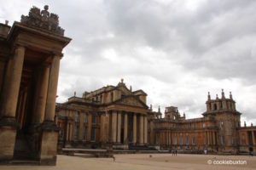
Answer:
[[(2, 117), (15, 117), (25, 52), (25, 47), (17, 46), (13, 59), (9, 59), (3, 88)], [(54, 122), (60, 59), (60, 55), (55, 55), (50, 68), (45, 66), (42, 71), (33, 118), (35, 122)]]

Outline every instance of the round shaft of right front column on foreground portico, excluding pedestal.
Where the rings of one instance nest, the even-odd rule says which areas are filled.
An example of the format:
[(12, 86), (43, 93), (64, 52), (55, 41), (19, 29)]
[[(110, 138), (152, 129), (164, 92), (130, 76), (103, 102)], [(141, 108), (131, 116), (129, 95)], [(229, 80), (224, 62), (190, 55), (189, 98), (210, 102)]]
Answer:
[(53, 122), (55, 119), (55, 99), (59, 78), (60, 59), (60, 55), (55, 55), (51, 63), (44, 122)]

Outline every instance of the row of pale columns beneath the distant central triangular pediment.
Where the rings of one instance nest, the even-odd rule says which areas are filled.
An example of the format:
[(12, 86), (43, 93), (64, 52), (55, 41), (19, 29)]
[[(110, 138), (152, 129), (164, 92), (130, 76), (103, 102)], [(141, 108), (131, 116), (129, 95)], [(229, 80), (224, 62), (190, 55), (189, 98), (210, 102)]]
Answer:
[[(113, 143), (121, 142), (121, 121), (122, 113), (112, 111), (112, 141)], [(139, 139), (137, 141), (137, 121), (139, 121)], [(147, 116), (140, 115), (137, 120), (137, 114), (133, 113), (132, 124), (132, 143), (133, 144), (147, 144), (148, 143), (148, 118)], [(128, 144), (128, 115), (124, 116), (124, 143)]]

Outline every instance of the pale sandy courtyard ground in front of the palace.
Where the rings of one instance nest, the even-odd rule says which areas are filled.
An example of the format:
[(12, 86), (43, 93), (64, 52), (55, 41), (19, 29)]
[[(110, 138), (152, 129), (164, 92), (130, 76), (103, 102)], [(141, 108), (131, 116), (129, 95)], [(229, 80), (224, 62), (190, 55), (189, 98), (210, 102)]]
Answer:
[[(210, 160), (210, 161), (209, 161)], [(223, 161), (224, 160), (224, 161)], [(219, 165), (237, 163), (243, 165)], [(218, 165), (216, 165), (218, 163)], [(245, 164), (246, 163), (246, 164)], [(256, 169), (256, 156), (204, 156), (172, 154), (115, 155), (112, 158), (84, 158), (80, 156), (58, 156), (55, 167), (0, 166), (0, 170), (151, 170), (151, 169)]]

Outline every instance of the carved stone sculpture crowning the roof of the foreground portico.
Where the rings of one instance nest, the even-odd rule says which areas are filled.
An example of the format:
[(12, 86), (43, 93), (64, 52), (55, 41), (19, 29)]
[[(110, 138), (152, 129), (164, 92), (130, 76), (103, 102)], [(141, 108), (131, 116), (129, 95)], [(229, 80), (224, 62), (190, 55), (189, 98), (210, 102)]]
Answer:
[(64, 35), (64, 30), (59, 26), (59, 16), (48, 12), (48, 5), (44, 6), (44, 10), (33, 6), (28, 16), (21, 15), (20, 23), (26, 26), (34, 26), (46, 31), (51, 31), (61, 36)]

